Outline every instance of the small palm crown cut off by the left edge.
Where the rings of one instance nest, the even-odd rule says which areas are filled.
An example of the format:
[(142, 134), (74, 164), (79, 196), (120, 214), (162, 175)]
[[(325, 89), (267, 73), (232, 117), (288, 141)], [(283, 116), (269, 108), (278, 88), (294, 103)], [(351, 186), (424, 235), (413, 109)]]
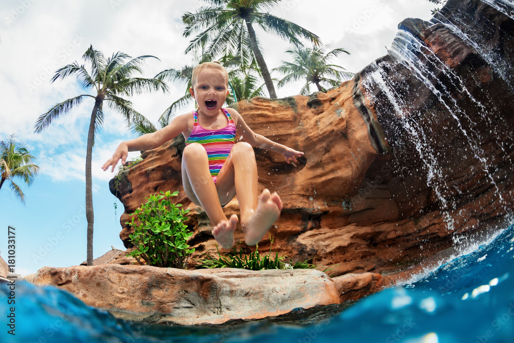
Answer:
[(32, 163), (33, 159), (35, 157), (29, 154), (25, 145), (14, 140), (14, 134), (0, 141), (0, 188), (8, 180), (11, 191), (22, 203), (25, 203), (25, 194), (13, 179), (21, 178), (30, 186), (39, 171), (39, 167)]

